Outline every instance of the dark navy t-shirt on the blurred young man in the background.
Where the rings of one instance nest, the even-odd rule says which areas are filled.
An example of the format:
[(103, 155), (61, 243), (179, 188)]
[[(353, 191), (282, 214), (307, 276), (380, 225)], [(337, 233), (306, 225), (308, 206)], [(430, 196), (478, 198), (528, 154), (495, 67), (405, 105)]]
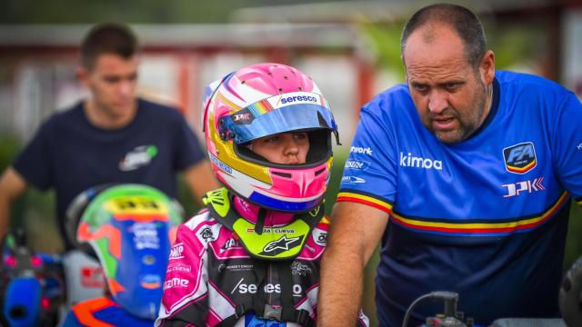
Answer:
[[(63, 235), (66, 207), (89, 187), (144, 183), (175, 197), (176, 172), (205, 158), (195, 134), (174, 108), (138, 99), (130, 124), (104, 130), (89, 123), (83, 105), (51, 116), (14, 163), (27, 183), (41, 190), (55, 188)], [(70, 248), (66, 240), (65, 247)]]

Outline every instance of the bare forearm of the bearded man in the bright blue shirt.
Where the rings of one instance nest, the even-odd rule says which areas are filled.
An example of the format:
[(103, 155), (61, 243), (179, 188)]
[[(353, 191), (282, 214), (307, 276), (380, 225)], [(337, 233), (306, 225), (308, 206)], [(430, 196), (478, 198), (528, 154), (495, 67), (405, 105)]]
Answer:
[(356, 323), (362, 302), (364, 267), (374, 253), (388, 214), (360, 203), (336, 203), (321, 262), (317, 325)]

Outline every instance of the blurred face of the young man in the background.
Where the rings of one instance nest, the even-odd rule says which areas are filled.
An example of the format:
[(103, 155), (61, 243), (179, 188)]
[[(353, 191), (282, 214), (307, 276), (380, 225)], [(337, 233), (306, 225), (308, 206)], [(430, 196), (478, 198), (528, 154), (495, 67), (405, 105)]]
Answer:
[(116, 54), (101, 54), (92, 68), (82, 68), (80, 79), (103, 114), (112, 118), (133, 114), (138, 64), (135, 56), (125, 59)]

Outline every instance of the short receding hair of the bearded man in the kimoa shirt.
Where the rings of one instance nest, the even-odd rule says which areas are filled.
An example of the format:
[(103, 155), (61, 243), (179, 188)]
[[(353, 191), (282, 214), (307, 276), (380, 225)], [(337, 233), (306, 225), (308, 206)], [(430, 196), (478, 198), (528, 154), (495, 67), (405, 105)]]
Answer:
[(461, 5), (427, 5), (412, 15), (406, 22), (400, 38), (400, 50), (403, 56), (408, 36), (419, 27), (430, 23), (442, 23), (450, 26), (463, 41), (469, 64), (474, 67), (478, 66), (487, 51), (485, 30), (477, 15)]

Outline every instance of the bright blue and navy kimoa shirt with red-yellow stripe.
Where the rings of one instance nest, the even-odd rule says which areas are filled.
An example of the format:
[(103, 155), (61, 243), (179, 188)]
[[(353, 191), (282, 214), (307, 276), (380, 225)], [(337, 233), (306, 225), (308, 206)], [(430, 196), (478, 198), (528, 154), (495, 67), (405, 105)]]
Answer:
[[(366, 104), (338, 201), (390, 213), (376, 304), (382, 326), (399, 326), (431, 291), (458, 292), (477, 323), (557, 316), (571, 197), (582, 204), (582, 105), (541, 77), (497, 72), (486, 122), (457, 144), (426, 130), (406, 84)], [(423, 303), (416, 322), (437, 312)]]

